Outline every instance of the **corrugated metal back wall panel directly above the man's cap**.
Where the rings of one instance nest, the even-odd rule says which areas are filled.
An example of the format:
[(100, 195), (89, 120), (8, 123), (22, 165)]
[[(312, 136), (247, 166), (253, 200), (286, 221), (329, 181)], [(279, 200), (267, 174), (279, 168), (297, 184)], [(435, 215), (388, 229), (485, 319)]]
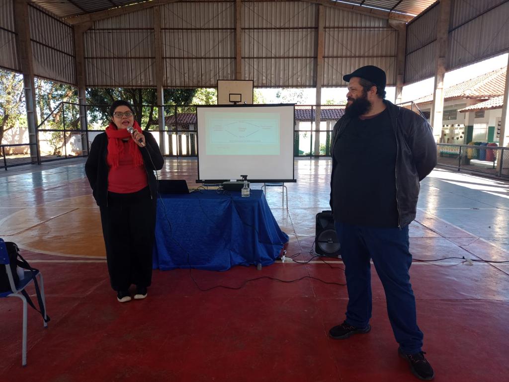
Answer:
[(327, 8), (325, 12), (323, 86), (345, 86), (345, 74), (364, 65), (385, 70), (396, 83), (398, 33), (387, 20)]

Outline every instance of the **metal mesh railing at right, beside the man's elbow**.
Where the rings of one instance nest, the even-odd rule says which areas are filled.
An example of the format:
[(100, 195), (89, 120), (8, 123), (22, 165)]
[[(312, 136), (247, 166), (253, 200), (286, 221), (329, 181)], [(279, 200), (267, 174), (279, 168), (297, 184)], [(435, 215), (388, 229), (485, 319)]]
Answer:
[(458, 171), (509, 178), (509, 148), (495, 144), (437, 143), (438, 164)]

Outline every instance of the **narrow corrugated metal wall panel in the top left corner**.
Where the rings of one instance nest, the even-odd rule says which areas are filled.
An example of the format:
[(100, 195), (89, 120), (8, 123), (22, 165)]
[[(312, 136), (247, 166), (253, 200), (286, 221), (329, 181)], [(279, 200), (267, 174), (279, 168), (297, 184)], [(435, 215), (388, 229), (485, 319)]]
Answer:
[(0, 67), (21, 71), (14, 27), (14, 0), (0, 0)]

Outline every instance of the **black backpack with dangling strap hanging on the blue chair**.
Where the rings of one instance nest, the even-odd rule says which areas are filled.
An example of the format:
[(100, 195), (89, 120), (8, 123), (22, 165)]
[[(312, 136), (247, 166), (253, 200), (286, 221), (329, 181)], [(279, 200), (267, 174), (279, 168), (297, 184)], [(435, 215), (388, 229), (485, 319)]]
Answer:
[[(12, 278), (14, 279), (14, 285), (18, 285), (19, 283), (19, 277), (18, 273), (16, 272), (16, 267), (20, 267), (22, 269), (26, 269), (28, 271), (32, 272), (32, 278), (34, 279), (34, 286), (35, 291), (37, 295), (37, 302), (39, 303), (39, 309), (37, 309), (32, 302), (32, 299), (30, 298), (29, 294), (26, 292), (26, 290), (21, 290), (21, 294), (25, 297), (26, 302), (35, 310), (37, 310), (39, 313), (41, 313), (42, 317), (44, 318), (45, 313), (45, 307), (44, 303), (42, 301), (41, 296), (41, 290), (39, 289), (39, 283), (37, 282), (37, 278), (35, 277), (36, 272), (38, 272), (38, 269), (32, 268), (30, 264), (19, 254), (19, 248), (15, 243), (12, 242), (5, 242), (5, 246), (7, 248), (7, 253), (9, 255), (9, 266), (11, 267), (11, 273)], [(0, 265), (0, 292), (9, 292), (13, 291), (11, 290), (11, 284), (9, 283), (9, 278), (7, 277), (7, 272), (5, 270), (5, 265)], [(49, 316), (46, 316), (44, 318), (45, 322), (49, 322)]]

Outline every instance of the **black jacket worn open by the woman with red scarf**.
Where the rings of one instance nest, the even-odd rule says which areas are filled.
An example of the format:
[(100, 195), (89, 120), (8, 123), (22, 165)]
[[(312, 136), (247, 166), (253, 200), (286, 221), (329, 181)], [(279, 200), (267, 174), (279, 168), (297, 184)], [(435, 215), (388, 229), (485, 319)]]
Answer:
[[(149, 183), (150, 195), (153, 199), (157, 198), (157, 179), (154, 170), (160, 170), (164, 164), (164, 159), (159, 150), (156, 140), (151, 133), (144, 131), (146, 146), (139, 148), (142, 153), (143, 163), (147, 171), (147, 181)], [(85, 163), (85, 172), (92, 187), (92, 193), (96, 199), (97, 205), (107, 205), (108, 201), (108, 172), (109, 167), (106, 162), (108, 154), (108, 136), (106, 133), (95, 137), (90, 148), (87, 163)], [(149, 157), (150, 154), (150, 157)], [(152, 161), (150, 160), (152, 158)], [(152, 165), (152, 162), (154, 165)]]

